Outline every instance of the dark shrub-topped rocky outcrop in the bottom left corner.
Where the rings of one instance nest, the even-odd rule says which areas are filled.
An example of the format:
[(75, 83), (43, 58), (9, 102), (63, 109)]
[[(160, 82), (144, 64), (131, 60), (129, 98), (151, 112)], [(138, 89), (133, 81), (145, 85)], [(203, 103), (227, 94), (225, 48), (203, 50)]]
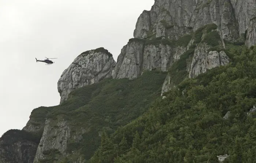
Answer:
[(0, 163), (33, 163), (39, 136), (22, 130), (9, 130), (0, 138)]

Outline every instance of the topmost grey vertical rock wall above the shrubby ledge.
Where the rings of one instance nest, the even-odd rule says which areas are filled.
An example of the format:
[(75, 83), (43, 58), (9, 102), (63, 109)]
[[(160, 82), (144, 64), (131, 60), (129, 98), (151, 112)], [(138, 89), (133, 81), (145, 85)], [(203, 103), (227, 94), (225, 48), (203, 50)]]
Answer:
[(256, 16), (254, 0), (155, 0), (150, 11), (139, 16), (133, 36), (163, 36), (178, 39), (185, 33), (215, 23), (222, 39), (235, 41), (247, 32), (248, 46), (254, 45)]

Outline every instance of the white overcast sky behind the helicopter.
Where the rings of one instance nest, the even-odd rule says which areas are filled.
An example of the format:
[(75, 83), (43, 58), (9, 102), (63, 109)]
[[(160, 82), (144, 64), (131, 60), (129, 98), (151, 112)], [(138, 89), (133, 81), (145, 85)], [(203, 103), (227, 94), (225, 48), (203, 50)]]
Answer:
[[(82, 52), (114, 60), (154, 0), (0, 0), (0, 136), (26, 126), (31, 111), (60, 102), (57, 81)], [(53, 65), (36, 62), (55, 58)]]

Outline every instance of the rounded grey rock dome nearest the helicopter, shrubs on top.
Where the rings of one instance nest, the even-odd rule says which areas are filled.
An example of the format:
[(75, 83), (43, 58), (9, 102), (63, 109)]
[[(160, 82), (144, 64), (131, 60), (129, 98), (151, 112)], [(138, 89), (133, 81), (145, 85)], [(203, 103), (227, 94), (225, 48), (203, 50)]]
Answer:
[(61, 74), (58, 81), (60, 103), (68, 98), (72, 90), (112, 77), (115, 65), (112, 54), (104, 48), (83, 52)]

